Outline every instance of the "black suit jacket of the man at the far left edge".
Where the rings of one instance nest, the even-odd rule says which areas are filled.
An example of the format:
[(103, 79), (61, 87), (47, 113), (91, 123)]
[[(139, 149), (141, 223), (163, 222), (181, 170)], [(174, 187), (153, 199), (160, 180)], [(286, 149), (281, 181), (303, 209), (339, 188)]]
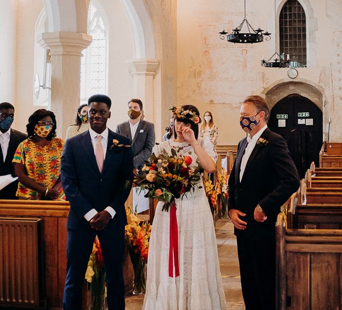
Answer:
[[(14, 130), (11, 128), (10, 131), (10, 142), (7, 149), (7, 155), (4, 162), (3, 150), (0, 148), (0, 176), (14, 175), (14, 166), (12, 160), (14, 157), (15, 150), (18, 145), (27, 138), (27, 135), (23, 132)], [(0, 190), (0, 199), (16, 199), (15, 193), (18, 188), (18, 181), (12, 182), (5, 188)]]

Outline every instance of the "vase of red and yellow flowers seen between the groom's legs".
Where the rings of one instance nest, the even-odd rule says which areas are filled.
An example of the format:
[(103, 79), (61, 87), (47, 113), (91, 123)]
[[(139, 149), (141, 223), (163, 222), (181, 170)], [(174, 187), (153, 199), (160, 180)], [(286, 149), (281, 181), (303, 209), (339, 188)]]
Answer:
[(104, 298), (106, 297), (106, 273), (102, 250), (97, 236), (94, 240), (85, 278), (89, 282), (90, 309), (102, 310)]

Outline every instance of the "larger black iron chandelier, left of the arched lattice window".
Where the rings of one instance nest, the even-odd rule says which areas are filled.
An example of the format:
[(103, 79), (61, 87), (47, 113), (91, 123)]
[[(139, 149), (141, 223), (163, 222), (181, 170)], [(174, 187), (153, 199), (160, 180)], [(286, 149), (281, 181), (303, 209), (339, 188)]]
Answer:
[[(242, 33), (241, 32), (242, 27), (244, 26), (245, 23), (248, 28), (248, 32)], [(227, 37), (227, 41), (232, 42), (232, 43), (251, 43), (251, 44), (263, 42), (264, 36), (266, 36), (265, 38), (266, 41), (270, 40), (271, 33), (269, 33), (268, 31), (263, 33), (263, 31), (264, 30), (260, 28), (257, 28), (256, 30), (254, 30), (251, 24), (248, 22), (247, 17), (246, 17), (246, 0), (244, 0), (243, 21), (238, 27), (236, 27), (235, 25), (235, 29), (232, 29), (231, 33), (226, 32), (225, 29), (223, 29), (222, 27), (222, 31), (219, 32), (219, 38), (221, 40), (225, 40), (225, 38)]]

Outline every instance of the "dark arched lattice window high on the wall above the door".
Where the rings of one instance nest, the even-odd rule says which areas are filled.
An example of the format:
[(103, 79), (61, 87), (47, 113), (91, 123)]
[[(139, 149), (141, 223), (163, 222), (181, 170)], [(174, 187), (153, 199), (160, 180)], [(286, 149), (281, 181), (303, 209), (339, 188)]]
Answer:
[(280, 11), (279, 51), (290, 56), (292, 67), (307, 66), (306, 16), (297, 0), (288, 0)]

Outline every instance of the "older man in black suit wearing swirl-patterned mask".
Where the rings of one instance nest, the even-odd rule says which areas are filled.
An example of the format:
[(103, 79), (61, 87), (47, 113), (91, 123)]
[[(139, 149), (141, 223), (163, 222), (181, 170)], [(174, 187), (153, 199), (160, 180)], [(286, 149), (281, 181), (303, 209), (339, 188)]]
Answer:
[(280, 206), (298, 189), (299, 177), (285, 140), (267, 127), (270, 111), (260, 96), (240, 109), (248, 132), (238, 144), (228, 181), (246, 310), (275, 309), (275, 222)]

